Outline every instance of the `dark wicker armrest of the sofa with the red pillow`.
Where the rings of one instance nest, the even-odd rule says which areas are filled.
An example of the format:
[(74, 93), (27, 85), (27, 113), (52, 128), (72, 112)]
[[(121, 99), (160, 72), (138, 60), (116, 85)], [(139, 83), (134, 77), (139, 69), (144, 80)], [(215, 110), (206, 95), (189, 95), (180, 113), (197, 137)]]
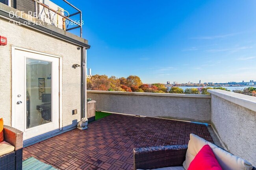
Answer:
[[(134, 170), (182, 166), (186, 158), (187, 145), (135, 148), (133, 152)], [(253, 167), (252, 170), (256, 168)]]

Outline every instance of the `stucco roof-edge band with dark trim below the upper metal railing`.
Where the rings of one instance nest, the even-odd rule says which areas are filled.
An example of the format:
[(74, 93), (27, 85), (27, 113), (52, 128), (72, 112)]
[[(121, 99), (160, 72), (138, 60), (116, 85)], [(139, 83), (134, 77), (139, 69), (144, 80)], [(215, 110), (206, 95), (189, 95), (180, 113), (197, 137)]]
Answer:
[[(55, 37), (59, 37), (59, 38), (71, 41), (74, 44), (78, 44), (86, 48), (90, 48), (88, 44), (88, 40), (82, 37), (78, 37), (67, 31), (64, 31), (63, 29), (60, 29), (56, 26), (52, 26), (46, 22), (43, 22), (42, 20), (39, 20), (31, 15), (21, 12), (13, 7), (9, 7), (8, 5), (5, 5), (3, 3), (0, 3), (0, 17), (5, 18), (7, 20), (14, 20), (18, 22), (17, 24), (19, 24), (19, 22), (20, 24), (24, 24), (25, 22), (26, 24), (24, 25), (27, 25), (31, 28), (38, 29), (39, 31), (48, 33)], [(31, 23), (29, 24), (28, 21)]]

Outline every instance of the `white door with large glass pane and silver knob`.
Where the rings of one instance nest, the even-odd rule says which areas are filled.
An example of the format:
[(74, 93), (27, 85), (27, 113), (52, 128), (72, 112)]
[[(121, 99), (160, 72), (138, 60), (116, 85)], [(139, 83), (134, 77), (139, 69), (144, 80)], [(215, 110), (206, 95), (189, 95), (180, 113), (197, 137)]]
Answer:
[(59, 58), (15, 49), (13, 127), (24, 140), (59, 130)]

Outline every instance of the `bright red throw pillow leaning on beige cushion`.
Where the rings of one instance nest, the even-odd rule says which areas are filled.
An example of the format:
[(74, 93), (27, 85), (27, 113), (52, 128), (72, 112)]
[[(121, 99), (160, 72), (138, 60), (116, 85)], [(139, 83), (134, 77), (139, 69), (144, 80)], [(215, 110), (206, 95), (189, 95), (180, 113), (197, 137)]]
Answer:
[(222, 170), (211, 147), (206, 144), (195, 156), (187, 170)]

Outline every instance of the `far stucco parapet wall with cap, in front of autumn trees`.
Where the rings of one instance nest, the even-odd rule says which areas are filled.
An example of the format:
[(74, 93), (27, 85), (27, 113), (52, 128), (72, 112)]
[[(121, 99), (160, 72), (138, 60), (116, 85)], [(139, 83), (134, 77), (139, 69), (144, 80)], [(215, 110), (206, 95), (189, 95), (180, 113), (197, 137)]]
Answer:
[(87, 97), (96, 101), (96, 110), (105, 112), (208, 123), (211, 119), (210, 95), (87, 90)]

